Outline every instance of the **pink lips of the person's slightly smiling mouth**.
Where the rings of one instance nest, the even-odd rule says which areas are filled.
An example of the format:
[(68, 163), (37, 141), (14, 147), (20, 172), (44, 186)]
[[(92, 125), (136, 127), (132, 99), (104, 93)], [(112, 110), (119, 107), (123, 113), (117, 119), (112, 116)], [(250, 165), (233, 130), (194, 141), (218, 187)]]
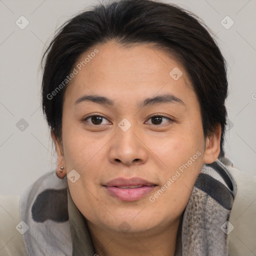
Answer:
[[(134, 186), (137, 188), (120, 188), (120, 186)], [(142, 186), (141, 186), (142, 185)], [(132, 177), (129, 179), (115, 178), (108, 181), (105, 185), (108, 193), (115, 198), (123, 201), (134, 201), (144, 197), (146, 194), (155, 189), (156, 184), (153, 184), (145, 179), (139, 177)]]

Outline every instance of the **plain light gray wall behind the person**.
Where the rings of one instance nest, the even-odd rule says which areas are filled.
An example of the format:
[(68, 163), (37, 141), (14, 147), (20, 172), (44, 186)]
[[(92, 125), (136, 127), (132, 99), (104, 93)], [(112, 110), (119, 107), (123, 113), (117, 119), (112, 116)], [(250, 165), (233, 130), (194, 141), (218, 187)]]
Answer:
[[(59, 25), (98, 2), (0, 0), (0, 194), (20, 194), (39, 176), (56, 168), (40, 107), (42, 51)], [(234, 167), (256, 175), (255, 0), (164, 2), (194, 12), (215, 34), (228, 64), (226, 156)], [(20, 16), (29, 22), (24, 29), (15, 23)], [(20, 119), (28, 125), (23, 130), (19, 125), (24, 120)]]

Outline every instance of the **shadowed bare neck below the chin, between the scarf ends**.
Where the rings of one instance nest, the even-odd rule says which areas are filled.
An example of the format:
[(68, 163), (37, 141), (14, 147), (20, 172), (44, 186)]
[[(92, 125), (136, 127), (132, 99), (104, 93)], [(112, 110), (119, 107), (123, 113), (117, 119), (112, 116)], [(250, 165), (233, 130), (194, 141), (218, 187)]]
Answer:
[(162, 228), (126, 233), (106, 230), (86, 221), (94, 251), (100, 256), (173, 256), (179, 219), (180, 217)]

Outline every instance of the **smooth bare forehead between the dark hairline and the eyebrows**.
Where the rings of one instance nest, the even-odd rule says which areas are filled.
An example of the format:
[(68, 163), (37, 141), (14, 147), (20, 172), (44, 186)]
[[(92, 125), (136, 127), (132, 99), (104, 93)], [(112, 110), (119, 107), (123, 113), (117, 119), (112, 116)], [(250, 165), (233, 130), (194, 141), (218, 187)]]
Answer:
[(73, 102), (82, 93), (132, 99), (167, 92), (188, 95), (192, 88), (183, 66), (153, 44), (96, 44), (79, 56), (74, 68), (77, 73), (65, 92)]

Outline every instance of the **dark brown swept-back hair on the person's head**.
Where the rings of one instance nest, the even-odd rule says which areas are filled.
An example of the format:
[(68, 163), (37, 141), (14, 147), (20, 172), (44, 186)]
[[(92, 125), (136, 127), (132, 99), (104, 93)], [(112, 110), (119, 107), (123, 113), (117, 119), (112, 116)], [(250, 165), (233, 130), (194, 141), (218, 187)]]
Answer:
[[(54, 93), (77, 58), (96, 43), (154, 43), (174, 52), (184, 66), (200, 104), (204, 137), (221, 125), (220, 154), (226, 125), (226, 62), (214, 37), (193, 13), (175, 4), (152, 0), (120, 0), (98, 4), (66, 21), (42, 58), (42, 108), (57, 139), (61, 138), (63, 95)], [(44, 64), (43, 64), (44, 63)]]

